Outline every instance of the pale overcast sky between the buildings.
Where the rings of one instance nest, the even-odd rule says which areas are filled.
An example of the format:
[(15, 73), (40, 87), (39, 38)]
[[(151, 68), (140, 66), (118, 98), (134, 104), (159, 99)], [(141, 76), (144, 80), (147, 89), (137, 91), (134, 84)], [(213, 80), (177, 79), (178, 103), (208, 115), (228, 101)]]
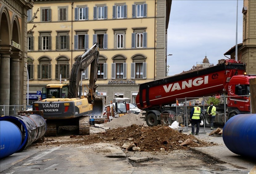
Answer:
[[(242, 43), (243, 0), (238, 1), (237, 43)], [(201, 64), (227, 59), (236, 45), (237, 0), (173, 0), (167, 33), (168, 76)], [(228, 56), (230, 57), (230, 56)]]

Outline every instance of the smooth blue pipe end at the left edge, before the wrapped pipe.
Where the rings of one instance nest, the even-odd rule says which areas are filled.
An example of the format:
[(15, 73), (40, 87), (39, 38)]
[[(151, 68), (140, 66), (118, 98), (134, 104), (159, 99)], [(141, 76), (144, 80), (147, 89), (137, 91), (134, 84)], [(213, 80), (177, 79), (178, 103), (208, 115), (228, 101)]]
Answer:
[(14, 154), (22, 141), (21, 132), (14, 123), (0, 121), (0, 159)]

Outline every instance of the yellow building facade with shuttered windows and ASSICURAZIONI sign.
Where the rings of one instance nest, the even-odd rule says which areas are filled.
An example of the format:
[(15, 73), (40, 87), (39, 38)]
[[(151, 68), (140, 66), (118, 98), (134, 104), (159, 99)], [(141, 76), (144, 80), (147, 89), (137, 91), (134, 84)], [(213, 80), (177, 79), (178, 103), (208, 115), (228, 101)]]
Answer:
[[(139, 84), (166, 76), (171, 1), (35, 1), (28, 10), (29, 93), (68, 83), (76, 58), (100, 46), (97, 92), (135, 103)], [(89, 69), (83, 84), (89, 84)]]

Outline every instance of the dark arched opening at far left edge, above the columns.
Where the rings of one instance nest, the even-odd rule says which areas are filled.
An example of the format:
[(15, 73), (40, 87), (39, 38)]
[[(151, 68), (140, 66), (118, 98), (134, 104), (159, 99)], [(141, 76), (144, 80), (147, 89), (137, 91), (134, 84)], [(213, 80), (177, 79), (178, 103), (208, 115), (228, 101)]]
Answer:
[[(0, 24), (0, 38), (1, 38), (1, 45), (10, 45), (10, 17), (8, 10), (4, 7), (0, 10), (1, 15), (1, 24)], [(4, 27), (3, 27), (4, 26)]]

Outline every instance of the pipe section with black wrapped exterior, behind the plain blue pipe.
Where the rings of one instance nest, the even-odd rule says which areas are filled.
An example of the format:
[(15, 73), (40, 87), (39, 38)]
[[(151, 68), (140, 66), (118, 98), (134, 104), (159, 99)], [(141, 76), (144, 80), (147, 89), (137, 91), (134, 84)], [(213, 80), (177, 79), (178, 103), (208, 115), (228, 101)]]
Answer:
[[(2, 116), (0, 121), (10, 121), (20, 130), (22, 142), (17, 152), (23, 151), (27, 146), (43, 137), (46, 132), (46, 121), (37, 114), (21, 114), (19, 116)], [(1, 136), (2, 136), (2, 132)]]

